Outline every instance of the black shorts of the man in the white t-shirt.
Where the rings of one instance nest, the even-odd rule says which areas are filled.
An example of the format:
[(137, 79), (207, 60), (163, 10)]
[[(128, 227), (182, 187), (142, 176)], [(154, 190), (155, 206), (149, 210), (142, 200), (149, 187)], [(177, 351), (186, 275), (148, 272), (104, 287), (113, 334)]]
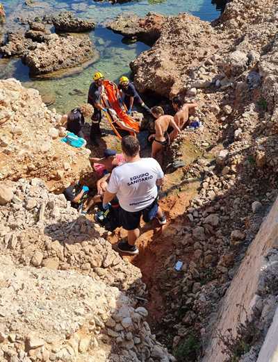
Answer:
[(125, 211), (123, 208), (119, 208), (119, 219), (120, 225), (125, 230), (134, 230), (140, 226), (140, 219), (143, 216), (143, 220), (145, 222), (150, 222), (156, 217), (158, 211), (158, 198), (154, 200), (154, 202), (144, 208), (143, 210), (136, 211), (131, 213), (130, 211)]

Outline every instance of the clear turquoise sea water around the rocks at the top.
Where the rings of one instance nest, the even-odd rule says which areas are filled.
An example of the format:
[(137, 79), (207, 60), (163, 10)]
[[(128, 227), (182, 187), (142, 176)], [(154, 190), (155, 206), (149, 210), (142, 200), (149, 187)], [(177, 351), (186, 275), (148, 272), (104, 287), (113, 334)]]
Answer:
[[(222, 3), (223, 0), (216, 0)], [(32, 7), (24, 6), (22, 0), (3, 1), (6, 9), (6, 28), (16, 28), (13, 20), (15, 17), (26, 17), (56, 13), (57, 11), (70, 10), (79, 17), (94, 19), (97, 23), (95, 31), (90, 33), (92, 42), (97, 47), (100, 57), (80, 74), (67, 76), (63, 79), (32, 80), (28, 76), (28, 67), (21, 60), (0, 59), (0, 77), (15, 77), (27, 87), (38, 89), (42, 94), (47, 94), (56, 99), (55, 108), (67, 112), (79, 103), (86, 101), (87, 92), (92, 79), (92, 74), (97, 70), (105, 74), (108, 79), (116, 81), (122, 74), (129, 74), (129, 63), (142, 51), (149, 49), (142, 42), (134, 44), (122, 43), (122, 35), (114, 34), (105, 28), (105, 22), (122, 13), (136, 13), (144, 16), (149, 11), (164, 15), (177, 15), (188, 12), (204, 20), (212, 20), (220, 15), (220, 8), (216, 8), (211, 0), (137, 0), (124, 4), (111, 5), (108, 2), (94, 1), (55, 1), (35, 2)]]

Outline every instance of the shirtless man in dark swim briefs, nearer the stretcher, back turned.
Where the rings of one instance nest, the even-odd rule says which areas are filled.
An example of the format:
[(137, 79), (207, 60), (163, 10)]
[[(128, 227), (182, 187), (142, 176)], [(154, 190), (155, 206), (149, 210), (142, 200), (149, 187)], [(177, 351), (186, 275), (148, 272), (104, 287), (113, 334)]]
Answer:
[[(154, 124), (156, 133), (149, 135), (149, 141), (154, 139), (152, 143), (152, 157), (155, 158), (161, 149), (170, 145), (170, 142), (174, 139), (174, 135), (178, 134), (181, 130), (174, 122), (172, 115), (164, 115), (163, 108), (153, 107), (151, 110), (152, 115), (156, 118)], [(170, 135), (167, 133), (169, 126), (172, 126), (174, 129)]]

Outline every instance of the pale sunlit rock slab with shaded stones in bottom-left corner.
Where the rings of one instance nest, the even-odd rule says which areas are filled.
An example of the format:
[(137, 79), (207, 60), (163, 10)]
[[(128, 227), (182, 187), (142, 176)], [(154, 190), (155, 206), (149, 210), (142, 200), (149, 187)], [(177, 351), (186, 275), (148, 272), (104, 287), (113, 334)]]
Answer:
[(0, 260), (1, 361), (175, 361), (152, 334), (147, 310), (117, 288)]

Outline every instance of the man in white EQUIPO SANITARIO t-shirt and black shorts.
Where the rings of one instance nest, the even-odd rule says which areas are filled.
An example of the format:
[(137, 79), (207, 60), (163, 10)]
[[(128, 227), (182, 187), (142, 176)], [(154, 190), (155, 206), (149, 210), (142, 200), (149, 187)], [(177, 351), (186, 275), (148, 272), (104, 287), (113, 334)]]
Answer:
[(163, 171), (154, 158), (140, 158), (137, 138), (129, 135), (122, 138), (122, 152), (126, 163), (115, 167), (104, 194), (103, 206), (115, 196), (120, 204), (120, 224), (127, 230), (127, 242), (119, 242), (120, 252), (138, 254), (136, 240), (140, 236), (140, 218), (145, 222), (157, 217), (166, 224), (166, 217), (158, 206), (158, 187), (163, 182)]

